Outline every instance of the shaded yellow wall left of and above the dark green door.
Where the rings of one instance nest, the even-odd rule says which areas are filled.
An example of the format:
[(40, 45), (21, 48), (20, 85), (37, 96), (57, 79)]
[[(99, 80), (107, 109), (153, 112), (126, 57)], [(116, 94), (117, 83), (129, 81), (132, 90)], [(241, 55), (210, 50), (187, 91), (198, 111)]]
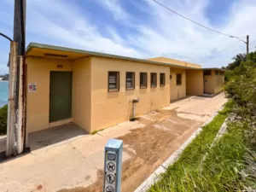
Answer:
[[(27, 84), (36, 83), (37, 91), (28, 92), (26, 127), (28, 132), (49, 128), (49, 72), (73, 71), (73, 62), (27, 57)], [(58, 68), (57, 65), (62, 65)]]

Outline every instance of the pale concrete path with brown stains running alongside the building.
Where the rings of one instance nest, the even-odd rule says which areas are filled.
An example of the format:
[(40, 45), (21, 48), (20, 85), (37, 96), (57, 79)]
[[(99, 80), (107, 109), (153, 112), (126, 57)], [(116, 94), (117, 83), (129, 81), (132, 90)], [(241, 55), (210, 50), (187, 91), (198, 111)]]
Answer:
[(102, 191), (103, 149), (109, 138), (124, 141), (122, 191), (133, 191), (224, 102), (224, 94), (191, 96), (135, 122), (34, 150), (0, 165), (0, 191)]

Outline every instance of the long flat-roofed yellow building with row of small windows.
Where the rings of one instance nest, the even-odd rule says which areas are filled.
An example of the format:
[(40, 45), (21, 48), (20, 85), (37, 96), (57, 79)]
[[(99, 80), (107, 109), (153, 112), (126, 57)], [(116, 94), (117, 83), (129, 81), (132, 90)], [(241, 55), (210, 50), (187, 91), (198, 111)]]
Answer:
[[(26, 49), (26, 130), (73, 122), (101, 130), (187, 95), (215, 94), (220, 69), (164, 57), (148, 60), (31, 43)], [(209, 73), (211, 72), (211, 73)]]

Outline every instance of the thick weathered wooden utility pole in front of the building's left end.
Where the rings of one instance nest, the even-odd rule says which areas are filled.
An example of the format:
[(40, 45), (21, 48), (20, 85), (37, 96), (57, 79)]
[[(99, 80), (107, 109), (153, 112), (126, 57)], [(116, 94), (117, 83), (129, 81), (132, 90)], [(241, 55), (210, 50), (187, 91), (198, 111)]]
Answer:
[[(21, 154), (26, 141), (26, 126), (25, 126), (25, 42), (26, 42), (26, 0), (15, 0), (15, 17), (14, 17), (14, 39), (16, 44), (15, 58), (10, 58), (10, 73), (9, 79), (12, 79), (9, 87), (14, 86), (13, 90), (9, 91), (9, 99), (14, 100), (9, 106), (9, 126), (6, 155)], [(14, 61), (15, 64), (11, 63)], [(11, 64), (13, 64), (11, 66)], [(13, 67), (13, 68), (11, 68)], [(15, 67), (15, 68), (14, 68)], [(11, 111), (15, 108), (15, 112)]]

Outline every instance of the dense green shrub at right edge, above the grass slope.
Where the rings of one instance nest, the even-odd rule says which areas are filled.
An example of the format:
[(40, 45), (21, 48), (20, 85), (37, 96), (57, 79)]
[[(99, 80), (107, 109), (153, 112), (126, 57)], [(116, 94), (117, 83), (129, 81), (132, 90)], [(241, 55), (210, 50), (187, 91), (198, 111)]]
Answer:
[(241, 62), (230, 72), (230, 80), (225, 84), (227, 96), (235, 102), (234, 113), (243, 122), (246, 137), (256, 148), (256, 62)]

